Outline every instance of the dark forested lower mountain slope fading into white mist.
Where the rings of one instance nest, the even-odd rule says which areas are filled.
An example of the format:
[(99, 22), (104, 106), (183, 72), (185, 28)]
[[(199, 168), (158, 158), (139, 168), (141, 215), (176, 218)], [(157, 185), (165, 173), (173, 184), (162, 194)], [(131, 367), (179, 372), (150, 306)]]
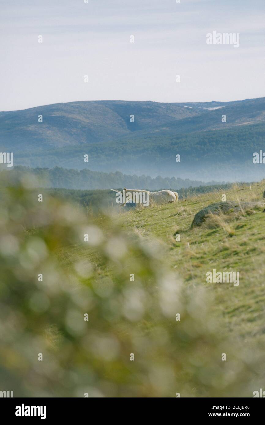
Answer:
[[(265, 177), (265, 164), (254, 164), (253, 153), (265, 151), (265, 123), (228, 127), (226, 130), (172, 134), (150, 133), (144, 137), (62, 148), (24, 150), (14, 164), (30, 167), (64, 167), (78, 170), (152, 177), (175, 176), (202, 181), (255, 181)], [(89, 161), (84, 162), (84, 154)], [(176, 155), (180, 162), (176, 162)]]

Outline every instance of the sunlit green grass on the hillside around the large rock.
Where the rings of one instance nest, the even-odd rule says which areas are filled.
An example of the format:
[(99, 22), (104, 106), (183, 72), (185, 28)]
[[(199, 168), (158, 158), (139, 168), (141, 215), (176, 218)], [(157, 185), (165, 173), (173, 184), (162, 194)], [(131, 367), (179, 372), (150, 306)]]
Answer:
[[(161, 255), (168, 265), (177, 270), (186, 285), (204, 286), (211, 293), (213, 320), (217, 320), (224, 334), (243, 338), (251, 344), (265, 339), (265, 213), (255, 211), (251, 215), (237, 215), (230, 221), (213, 227), (209, 223), (191, 229), (194, 215), (202, 208), (217, 201), (225, 193), (228, 200), (262, 201), (262, 182), (234, 186), (200, 194), (177, 204), (130, 210), (116, 216), (117, 226), (129, 235), (160, 242)], [(100, 225), (100, 217), (95, 218)], [(108, 229), (105, 230), (106, 232)], [(180, 241), (175, 241), (175, 234)], [(62, 253), (63, 254), (63, 253)], [(66, 254), (65, 254), (66, 255)], [(90, 257), (79, 246), (68, 249), (67, 257)], [(98, 272), (108, 274), (97, 264)], [(206, 283), (206, 272), (238, 271), (239, 286), (233, 283)]]

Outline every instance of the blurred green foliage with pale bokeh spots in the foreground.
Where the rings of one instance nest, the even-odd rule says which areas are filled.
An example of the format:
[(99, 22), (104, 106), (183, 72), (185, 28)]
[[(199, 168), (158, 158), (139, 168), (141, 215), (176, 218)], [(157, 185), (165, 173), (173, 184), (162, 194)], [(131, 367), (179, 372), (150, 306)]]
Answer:
[(48, 194), (39, 202), (33, 186), (24, 179), (0, 195), (1, 391), (252, 397), (261, 388), (261, 354), (224, 337), (208, 314), (214, 300), (182, 284), (157, 241)]

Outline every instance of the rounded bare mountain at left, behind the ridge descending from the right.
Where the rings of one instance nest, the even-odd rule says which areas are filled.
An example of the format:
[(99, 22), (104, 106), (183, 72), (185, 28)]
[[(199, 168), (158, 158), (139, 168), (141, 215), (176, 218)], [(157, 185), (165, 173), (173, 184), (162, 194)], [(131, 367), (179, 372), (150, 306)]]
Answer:
[[(43, 122), (38, 122), (39, 115)], [(13, 149), (91, 144), (196, 115), (183, 106), (156, 102), (57, 103), (1, 112), (0, 139)]]

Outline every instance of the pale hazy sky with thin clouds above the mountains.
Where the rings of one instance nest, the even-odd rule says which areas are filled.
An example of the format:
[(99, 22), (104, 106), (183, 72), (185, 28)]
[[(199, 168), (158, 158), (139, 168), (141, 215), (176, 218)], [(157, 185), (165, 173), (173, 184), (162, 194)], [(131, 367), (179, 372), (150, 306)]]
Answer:
[[(0, 0), (0, 27), (0, 111), (265, 96), (265, 0)], [(207, 45), (213, 31), (239, 48)]]

